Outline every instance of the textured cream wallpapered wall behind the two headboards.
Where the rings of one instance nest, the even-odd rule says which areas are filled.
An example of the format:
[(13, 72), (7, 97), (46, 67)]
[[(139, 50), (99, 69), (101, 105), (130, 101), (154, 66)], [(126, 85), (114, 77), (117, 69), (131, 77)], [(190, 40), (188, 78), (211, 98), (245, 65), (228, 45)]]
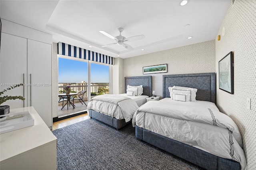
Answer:
[(167, 63), (167, 73), (152, 75), (152, 90), (162, 97), (162, 75), (215, 71), (215, 40), (124, 59), (124, 77), (143, 76), (142, 67)]

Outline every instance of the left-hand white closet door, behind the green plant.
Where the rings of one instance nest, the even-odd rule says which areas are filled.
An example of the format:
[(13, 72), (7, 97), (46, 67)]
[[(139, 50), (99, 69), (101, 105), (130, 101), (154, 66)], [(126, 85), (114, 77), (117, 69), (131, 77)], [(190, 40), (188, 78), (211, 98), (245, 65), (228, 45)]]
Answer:
[[(0, 91), (26, 82), (27, 73), (27, 39), (10, 34), (1, 34), (0, 47)], [(23, 78), (24, 75), (24, 78)], [(26, 97), (26, 87), (17, 87), (6, 91), (1, 96), (23, 96)], [(9, 105), (10, 109), (26, 107), (26, 100), (8, 100), (2, 105)]]

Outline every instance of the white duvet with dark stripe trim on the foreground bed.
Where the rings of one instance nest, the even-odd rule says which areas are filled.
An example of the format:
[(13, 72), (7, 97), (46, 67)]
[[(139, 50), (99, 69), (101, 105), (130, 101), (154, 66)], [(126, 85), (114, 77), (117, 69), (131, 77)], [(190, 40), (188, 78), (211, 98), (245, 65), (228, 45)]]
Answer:
[(132, 124), (216, 156), (236, 160), (242, 170), (246, 169), (239, 129), (214, 103), (170, 98), (149, 101), (135, 112)]

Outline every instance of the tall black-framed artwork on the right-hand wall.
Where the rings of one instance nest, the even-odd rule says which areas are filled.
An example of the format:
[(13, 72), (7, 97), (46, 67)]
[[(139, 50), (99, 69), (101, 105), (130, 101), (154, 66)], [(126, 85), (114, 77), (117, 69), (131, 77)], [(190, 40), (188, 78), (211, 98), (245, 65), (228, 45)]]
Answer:
[(219, 89), (234, 94), (234, 52), (219, 61)]

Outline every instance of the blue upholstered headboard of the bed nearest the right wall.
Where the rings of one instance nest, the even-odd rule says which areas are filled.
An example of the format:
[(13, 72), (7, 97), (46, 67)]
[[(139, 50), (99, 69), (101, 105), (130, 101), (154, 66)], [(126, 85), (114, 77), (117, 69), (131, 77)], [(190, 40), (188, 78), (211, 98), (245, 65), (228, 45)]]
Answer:
[(216, 73), (163, 75), (163, 98), (170, 97), (168, 87), (174, 85), (196, 88), (196, 100), (216, 104)]

